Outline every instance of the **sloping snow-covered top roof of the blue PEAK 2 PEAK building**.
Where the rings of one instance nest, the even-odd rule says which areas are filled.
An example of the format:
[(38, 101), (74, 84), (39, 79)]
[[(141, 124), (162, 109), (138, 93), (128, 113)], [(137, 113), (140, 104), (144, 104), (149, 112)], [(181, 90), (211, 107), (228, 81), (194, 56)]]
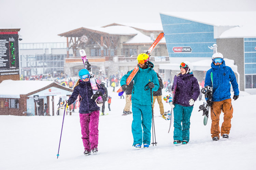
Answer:
[(162, 12), (160, 14), (205, 23), (213, 26), (256, 25), (256, 12)]

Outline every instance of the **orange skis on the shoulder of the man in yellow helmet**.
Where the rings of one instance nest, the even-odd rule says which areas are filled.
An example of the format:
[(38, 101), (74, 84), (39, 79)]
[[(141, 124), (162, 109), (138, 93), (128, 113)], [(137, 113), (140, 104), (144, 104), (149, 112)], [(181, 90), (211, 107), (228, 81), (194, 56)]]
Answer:
[[(156, 48), (157, 44), (159, 43), (159, 41), (165, 36), (165, 33), (160, 33), (156, 40), (154, 41), (154, 43), (151, 45), (151, 47), (145, 51), (145, 53), (150, 57), (150, 54), (153, 52), (153, 50)], [(139, 71), (139, 64), (137, 64), (137, 66), (133, 69), (133, 71), (131, 72), (131, 74), (129, 75), (129, 77), (126, 79), (126, 85), (128, 86), (130, 84), (130, 82), (132, 81), (132, 79), (135, 77), (135, 75), (138, 73)], [(118, 96), (122, 96), (124, 94), (124, 91), (122, 90), (122, 87), (120, 87), (116, 92), (118, 92)]]

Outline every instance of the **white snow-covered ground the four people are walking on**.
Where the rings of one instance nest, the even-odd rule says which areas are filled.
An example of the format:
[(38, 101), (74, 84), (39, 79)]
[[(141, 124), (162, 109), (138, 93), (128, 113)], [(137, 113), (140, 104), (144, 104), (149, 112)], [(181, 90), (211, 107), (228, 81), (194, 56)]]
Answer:
[[(232, 128), (228, 140), (212, 141), (211, 120), (203, 125), (196, 101), (191, 116), (190, 141), (173, 145), (173, 126), (155, 117), (157, 146), (134, 150), (132, 115), (121, 116), (125, 100), (108, 88), (111, 112), (100, 116), (99, 152), (84, 156), (79, 113), (65, 116), (58, 153), (62, 116), (0, 116), (0, 170), (80, 170), (80, 169), (256, 169), (256, 95), (233, 101)], [(163, 92), (163, 94), (167, 94)], [(170, 109), (164, 103), (165, 111)], [(155, 103), (155, 115), (160, 115)], [(223, 121), (223, 114), (221, 121)]]

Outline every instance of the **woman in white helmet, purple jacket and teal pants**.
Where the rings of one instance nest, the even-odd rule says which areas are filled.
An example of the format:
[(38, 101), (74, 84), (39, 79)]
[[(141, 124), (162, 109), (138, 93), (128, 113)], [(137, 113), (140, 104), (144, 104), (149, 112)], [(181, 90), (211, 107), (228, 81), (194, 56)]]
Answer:
[(183, 62), (180, 69), (181, 72), (175, 75), (173, 80), (173, 102), (170, 102), (174, 118), (173, 144), (188, 143), (190, 116), (194, 102), (200, 94), (198, 81), (192, 72), (193, 65), (190, 62)]

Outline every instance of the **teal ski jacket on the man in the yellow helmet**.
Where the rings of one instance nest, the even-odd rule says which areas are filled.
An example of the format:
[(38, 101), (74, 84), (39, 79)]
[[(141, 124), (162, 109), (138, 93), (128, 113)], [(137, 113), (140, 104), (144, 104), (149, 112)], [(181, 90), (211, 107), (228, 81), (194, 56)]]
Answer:
[[(142, 69), (139, 68), (138, 73), (134, 76), (134, 84), (131, 94), (131, 102), (140, 104), (140, 105), (151, 105), (151, 95), (150, 95), (150, 89), (144, 90), (144, 87), (149, 83), (153, 82), (155, 84), (155, 87), (152, 88), (152, 101), (153, 101), (153, 91), (157, 91), (159, 88), (159, 81), (157, 74), (154, 70), (152, 70), (154, 67), (154, 64), (151, 62), (148, 62), (148, 68)], [(125, 74), (122, 79), (120, 80), (120, 85), (126, 84), (126, 79), (129, 77), (133, 70), (129, 71), (127, 74)]]

